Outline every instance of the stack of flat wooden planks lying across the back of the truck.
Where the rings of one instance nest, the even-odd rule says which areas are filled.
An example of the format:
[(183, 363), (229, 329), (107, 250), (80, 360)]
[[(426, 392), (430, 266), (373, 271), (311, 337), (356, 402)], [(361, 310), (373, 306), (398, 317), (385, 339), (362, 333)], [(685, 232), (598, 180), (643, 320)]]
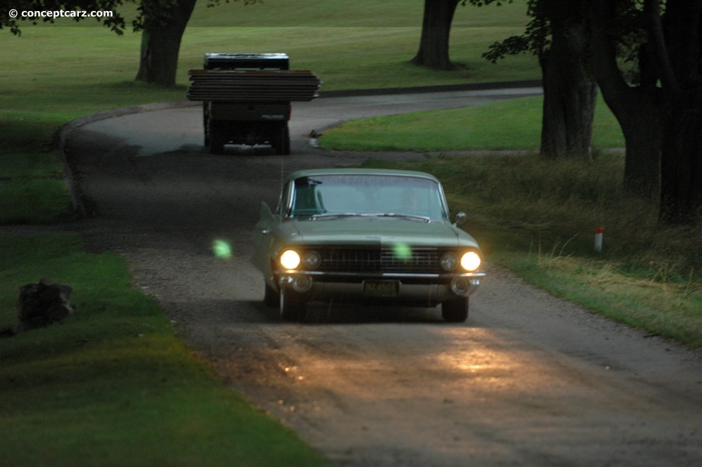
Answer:
[(322, 81), (307, 70), (190, 70), (189, 100), (309, 101)]

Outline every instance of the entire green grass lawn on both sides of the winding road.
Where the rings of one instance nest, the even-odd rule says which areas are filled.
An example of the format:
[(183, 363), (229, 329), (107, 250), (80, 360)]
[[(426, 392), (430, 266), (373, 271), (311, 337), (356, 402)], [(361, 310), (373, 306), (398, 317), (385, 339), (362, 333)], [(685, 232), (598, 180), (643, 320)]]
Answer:
[[(322, 78), (322, 91), (540, 78), (533, 57), (498, 65), (480, 58), (488, 44), (521, 32), (523, 2), (459, 6), (451, 32), (459, 66), (451, 72), (409, 64), (423, 0), (240, 3), (198, 2), (173, 88), (133, 81), (140, 36), (132, 32), (117, 37), (91, 23), (27, 25), (22, 37), (0, 31), (0, 224), (51, 223), (69, 209), (51, 152), (60, 126), (102, 110), (183, 99), (187, 70), (201, 67), (204, 52), (283, 51), (294, 68)], [(538, 98), (451, 112), (361, 121), (324, 141), (351, 147), (376, 140), (380, 150), (390, 149), (378, 146), (385, 140), (395, 147), (409, 133), (427, 133), (410, 149), (537, 145)], [(611, 115), (598, 110), (597, 124), (596, 149), (621, 146)], [(386, 138), (366, 138), (378, 129)], [(652, 334), (702, 346), (700, 232), (660, 232), (651, 206), (624, 199), (621, 157), (548, 164), (439, 157), (410, 166), (444, 180), (453, 210), (470, 213), (468, 230), (491, 261)], [(606, 228), (600, 256), (589, 249), (597, 225)], [(0, 234), (0, 328), (15, 322), (18, 287), (41, 277), (71, 284), (77, 313), (0, 339), (2, 466), (326, 465), (211, 374), (157, 304), (134, 289), (122, 258), (87, 254), (79, 237)]]

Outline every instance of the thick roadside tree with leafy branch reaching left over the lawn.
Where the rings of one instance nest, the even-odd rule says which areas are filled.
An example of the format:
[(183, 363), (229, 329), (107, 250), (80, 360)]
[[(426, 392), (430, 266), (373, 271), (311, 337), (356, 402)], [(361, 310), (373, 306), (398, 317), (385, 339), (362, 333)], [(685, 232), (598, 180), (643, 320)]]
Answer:
[[(477, 6), (498, 0), (471, 0)], [(512, 1), (510, 0), (510, 3)], [(543, 81), (541, 155), (590, 159), (597, 81), (592, 67), (585, 0), (527, 0), (531, 18), (524, 33), (496, 42), (484, 57), (530, 52), (538, 57)]]

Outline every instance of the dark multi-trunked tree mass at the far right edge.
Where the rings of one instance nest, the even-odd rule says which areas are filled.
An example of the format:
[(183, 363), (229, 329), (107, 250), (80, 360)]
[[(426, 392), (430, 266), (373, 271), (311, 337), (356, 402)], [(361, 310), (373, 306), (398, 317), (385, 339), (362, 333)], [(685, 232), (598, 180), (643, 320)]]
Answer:
[[(627, 176), (646, 194), (660, 174), (661, 221), (693, 222), (702, 215), (702, 0), (590, 4), (597, 77), (623, 129)], [(627, 47), (635, 84), (617, 60)]]

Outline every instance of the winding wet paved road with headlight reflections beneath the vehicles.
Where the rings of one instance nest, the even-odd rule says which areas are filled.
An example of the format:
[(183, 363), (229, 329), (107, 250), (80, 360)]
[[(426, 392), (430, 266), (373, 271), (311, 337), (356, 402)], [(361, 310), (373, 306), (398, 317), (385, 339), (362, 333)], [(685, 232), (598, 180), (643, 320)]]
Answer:
[[(97, 218), (93, 249), (130, 261), (231, 384), (339, 466), (702, 465), (699, 353), (604, 320), (489, 266), (465, 324), (438, 310), (265, 308), (248, 263), (260, 201), (329, 153), (305, 134), (362, 115), (478, 105), (538, 90), (324, 98), (295, 105), (293, 155), (211, 156), (198, 107), (94, 121), (66, 152)], [(385, 157), (424, 157), (388, 154)], [(218, 260), (211, 242), (232, 243)]]

